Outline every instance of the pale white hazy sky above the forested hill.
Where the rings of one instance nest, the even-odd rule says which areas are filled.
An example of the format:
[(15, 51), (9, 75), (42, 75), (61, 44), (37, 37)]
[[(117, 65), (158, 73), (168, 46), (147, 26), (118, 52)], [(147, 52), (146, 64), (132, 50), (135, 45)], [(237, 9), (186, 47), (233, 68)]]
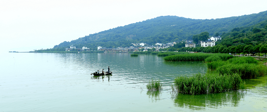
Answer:
[(267, 10), (267, 0), (0, 0), (0, 51), (53, 48), (158, 16), (217, 19)]

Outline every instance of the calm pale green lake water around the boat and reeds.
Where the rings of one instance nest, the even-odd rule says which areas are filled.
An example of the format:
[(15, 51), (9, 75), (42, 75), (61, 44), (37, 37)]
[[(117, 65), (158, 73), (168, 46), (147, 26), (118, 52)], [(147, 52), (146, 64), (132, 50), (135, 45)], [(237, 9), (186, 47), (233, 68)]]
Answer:
[[(244, 80), (245, 91), (171, 92), (176, 77), (207, 72), (201, 61), (166, 62), (130, 53), (1, 53), (0, 58), (0, 112), (267, 111), (266, 76)], [(108, 66), (112, 75), (90, 75)], [(163, 90), (147, 91), (152, 79), (159, 79)]]

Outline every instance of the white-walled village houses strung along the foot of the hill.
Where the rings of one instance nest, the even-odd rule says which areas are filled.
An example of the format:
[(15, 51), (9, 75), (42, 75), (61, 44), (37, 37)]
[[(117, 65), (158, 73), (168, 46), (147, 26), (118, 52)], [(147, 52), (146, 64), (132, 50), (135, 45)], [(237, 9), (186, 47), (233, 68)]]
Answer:
[[(221, 37), (218, 36), (218, 37), (210, 37), (208, 38), (208, 40), (206, 41), (199, 41), (198, 44), (201, 44), (201, 47), (212, 47), (212, 46), (215, 46), (215, 42), (218, 41), (218, 40), (221, 40)], [(152, 48), (155, 48), (156, 51), (159, 51), (160, 48), (164, 49), (164, 48), (168, 48), (168, 47), (171, 47), (171, 46), (174, 46), (174, 44), (177, 44), (179, 42), (171, 42), (171, 43), (167, 43), (167, 44), (162, 44), (162, 43), (156, 43), (155, 46), (153, 45), (148, 45), (146, 43), (137, 43), (137, 44), (134, 44), (132, 43), (131, 47), (117, 47), (117, 48), (106, 48), (106, 47), (101, 47), (101, 46), (98, 46), (97, 47), (97, 50), (98, 51), (113, 51), (113, 52), (129, 52), (129, 51), (139, 51), (139, 49), (143, 49), (143, 51), (148, 51), (148, 49), (152, 49)], [(193, 40), (186, 40), (185, 42), (185, 47), (193, 47), (195, 48), (196, 47), (196, 44), (193, 43)], [(138, 47), (139, 46), (139, 47)], [(75, 46), (70, 46), (70, 48), (66, 48), (66, 51), (90, 51), (90, 48), (87, 48), (87, 47), (82, 47), (82, 48), (76, 48)]]

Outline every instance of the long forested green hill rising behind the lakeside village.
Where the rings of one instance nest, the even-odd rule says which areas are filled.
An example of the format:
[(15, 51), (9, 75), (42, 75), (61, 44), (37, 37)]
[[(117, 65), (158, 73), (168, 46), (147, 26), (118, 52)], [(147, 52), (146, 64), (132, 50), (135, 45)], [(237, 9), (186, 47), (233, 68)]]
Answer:
[[(64, 41), (54, 48), (67, 48), (71, 45), (76, 48), (83, 46), (95, 49), (97, 46), (115, 48), (130, 47), (131, 43), (169, 43), (192, 39), (193, 35), (208, 32), (228, 33), (236, 27), (249, 27), (267, 20), (267, 11), (258, 14), (235, 16), (221, 19), (189, 19), (178, 16), (160, 16), (142, 22), (119, 26), (113, 29), (90, 34), (71, 42)], [(265, 25), (263, 25), (265, 26)]]

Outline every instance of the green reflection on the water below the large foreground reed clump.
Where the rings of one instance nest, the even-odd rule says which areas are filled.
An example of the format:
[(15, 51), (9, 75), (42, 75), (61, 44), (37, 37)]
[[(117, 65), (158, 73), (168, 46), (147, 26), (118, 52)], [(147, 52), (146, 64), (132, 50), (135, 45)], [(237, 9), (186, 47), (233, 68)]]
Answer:
[(174, 106), (192, 110), (206, 108), (221, 108), (225, 106), (237, 107), (247, 91), (230, 91), (216, 94), (188, 95), (174, 94)]

